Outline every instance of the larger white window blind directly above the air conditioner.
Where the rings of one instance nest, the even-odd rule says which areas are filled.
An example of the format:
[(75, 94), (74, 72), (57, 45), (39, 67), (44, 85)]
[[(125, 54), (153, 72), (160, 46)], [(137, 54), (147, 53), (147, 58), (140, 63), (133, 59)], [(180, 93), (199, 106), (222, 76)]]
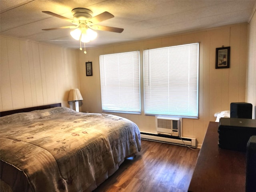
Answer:
[(144, 50), (145, 114), (198, 118), (199, 44)]

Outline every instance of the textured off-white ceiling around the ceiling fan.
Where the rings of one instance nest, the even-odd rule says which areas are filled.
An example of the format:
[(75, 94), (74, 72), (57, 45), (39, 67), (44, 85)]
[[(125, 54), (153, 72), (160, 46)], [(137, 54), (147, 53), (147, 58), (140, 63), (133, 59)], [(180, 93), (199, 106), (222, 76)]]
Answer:
[(71, 10), (78, 7), (92, 10), (93, 16), (110, 12), (115, 17), (99, 25), (124, 31), (97, 31), (96, 40), (86, 44), (96, 47), (248, 22), (256, 7), (256, 0), (0, 0), (0, 3), (2, 35), (69, 48), (80, 47), (69, 34), (72, 29), (42, 29), (72, 24), (42, 11), (70, 19), (73, 19)]

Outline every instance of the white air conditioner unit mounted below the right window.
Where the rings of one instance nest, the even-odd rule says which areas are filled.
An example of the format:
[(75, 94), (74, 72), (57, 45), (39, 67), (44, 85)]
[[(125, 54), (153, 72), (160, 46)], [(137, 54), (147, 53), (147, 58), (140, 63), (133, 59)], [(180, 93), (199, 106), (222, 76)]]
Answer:
[(182, 137), (182, 118), (156, 116), (158, 134), (168, 134)]

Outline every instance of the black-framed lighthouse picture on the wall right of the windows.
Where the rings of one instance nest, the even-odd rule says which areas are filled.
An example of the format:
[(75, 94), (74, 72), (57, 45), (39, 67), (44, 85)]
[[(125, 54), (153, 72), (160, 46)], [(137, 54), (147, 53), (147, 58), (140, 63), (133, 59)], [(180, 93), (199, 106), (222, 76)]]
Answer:
[(230, 47), (216, 48), (216, 69), (229, 68), (230, 66)]

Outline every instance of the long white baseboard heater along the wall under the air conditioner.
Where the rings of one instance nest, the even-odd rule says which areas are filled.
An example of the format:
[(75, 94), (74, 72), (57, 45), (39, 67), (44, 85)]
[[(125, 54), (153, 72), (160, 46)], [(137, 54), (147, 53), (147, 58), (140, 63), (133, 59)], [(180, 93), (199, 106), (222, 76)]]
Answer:
[(140, 132), (142, 140), (156, 141), (181, 146), (190, 146), (196, 148), (196, 138), (177, 137), (166, 134), (154, 134), (148, 132)]

